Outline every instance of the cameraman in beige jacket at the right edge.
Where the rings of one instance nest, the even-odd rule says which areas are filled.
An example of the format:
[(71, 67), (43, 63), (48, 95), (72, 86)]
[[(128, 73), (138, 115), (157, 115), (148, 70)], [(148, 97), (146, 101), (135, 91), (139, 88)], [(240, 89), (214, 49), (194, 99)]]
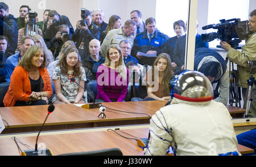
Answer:
[[(248, 23), (250, 35), (248, 36), (245, 45), (242, 46), (242, 51), (238, 51), (232, 48), (228, 42), (221, 41), (221, 47), (228, 52), (227, 57), (230, 61), (237, 64), (238, 75), (238, 85), (242, 88), (243, 101), (246, 101), (246, 89), (247, 89), (247, 79), (251, 76), (251, 68), (247, 66), (247, 61), (256, 60), (256, 10), (250, 13), (250, 19)], [(253, 75), (256, 77), (256, 75)], [(255, 87), (252, 92), (252, 99), (249, 113), (250, 116), (256, 117), (256, 92)]]

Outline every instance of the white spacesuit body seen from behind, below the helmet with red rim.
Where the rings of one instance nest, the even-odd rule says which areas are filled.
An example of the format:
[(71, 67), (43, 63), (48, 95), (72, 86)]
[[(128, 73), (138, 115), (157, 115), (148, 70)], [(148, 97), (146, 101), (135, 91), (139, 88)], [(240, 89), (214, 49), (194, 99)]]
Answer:
[[(150, 119), (145, 155), (166, 155), (169, 145), (177, 156), (208, 156), (238, 152), (232, 117), (221, 102), (172, 99)], [(238, 155), (241, 155), (238, 153)]]

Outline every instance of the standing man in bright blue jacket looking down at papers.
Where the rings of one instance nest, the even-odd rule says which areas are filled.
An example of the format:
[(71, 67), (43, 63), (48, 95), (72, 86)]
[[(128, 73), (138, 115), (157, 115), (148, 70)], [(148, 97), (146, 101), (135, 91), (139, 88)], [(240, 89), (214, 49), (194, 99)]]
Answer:
[(156, 29), (154, 18), (148, 18), (145, 24), (146, 31), (136, 36), (131, 54), (137, 56), (140, 64), (152, 66), (156, 57), (142, 56), (139, 52), (159, 55), (162, 53), (160, 46), (165, 44), (169, 37)]

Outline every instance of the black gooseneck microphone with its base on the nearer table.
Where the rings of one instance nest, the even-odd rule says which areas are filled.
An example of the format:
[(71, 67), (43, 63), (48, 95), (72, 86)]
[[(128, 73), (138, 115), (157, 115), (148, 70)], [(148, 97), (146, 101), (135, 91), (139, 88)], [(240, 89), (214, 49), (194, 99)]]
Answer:
[[(53, 112), (54, 109), (55, 109), (54, 105), (51, 104), (48, 106), (48, 114), (46, 116), (46, 119), (48, 118), (49, 114), (51, 114)], [(46, 119), (44, 120), (44, 123), (46, 123)], [(44, 123), (43, 123), (43, 125), (38, 133), (38, 136), (36, 138), (35, 150), (30, 149), (30, 150), (22, 151), (22, 153), (21, 153), (22, 156), (39, 156), (39, 155), (52, 156), (52, 152), (48, 148), (42, 148), (42, 149), (39, 149), (39, 151), (38, 151), (38, 137), (39, 137), (40, 132), (43, 129)]]

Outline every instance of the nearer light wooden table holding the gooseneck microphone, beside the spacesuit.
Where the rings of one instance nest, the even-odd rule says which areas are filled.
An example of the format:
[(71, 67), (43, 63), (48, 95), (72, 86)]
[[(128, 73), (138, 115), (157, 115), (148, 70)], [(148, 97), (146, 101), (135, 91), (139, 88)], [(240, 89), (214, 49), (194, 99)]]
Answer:
[[(148, 128), (144, 129), (126, 129), (121, 130), (138, 138), (148, 137)], [(117, 130), (119, 134), (132, 138)], [(35, 148), (36, 136), (20, 137), (20, 142)], [(53, 155), (60, 155), (72, 152), (95, 151), (99, 149), (119, 148), (125, 156), (141, 156), (142, 148), (138, 147), (137, 142), (131, 139), (125, 139), (115, 134), (113, 131), (96, 131), (96, 132), (76, 132), (71, 134), (43, 135), (39, 137), (38, 144), (46, 144)], [(28, 149), (19, 144), (21, 149)], [(252, 153), (253, 149), (238, 145), (238, 151), (243, 153)], [(0, 156), (18, 156), (19, 151), (14, 140), (10, 138), (0, 139)]]

